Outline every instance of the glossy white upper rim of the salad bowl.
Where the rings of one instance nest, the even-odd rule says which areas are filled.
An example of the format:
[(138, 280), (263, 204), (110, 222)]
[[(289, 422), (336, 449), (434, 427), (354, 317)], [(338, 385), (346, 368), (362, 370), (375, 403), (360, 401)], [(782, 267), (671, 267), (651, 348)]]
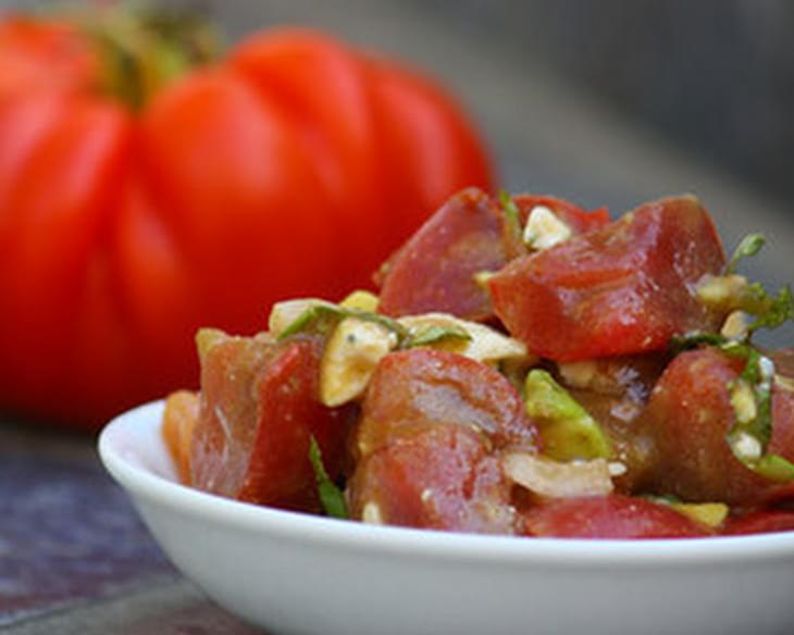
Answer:
[[(136, 505), (138, 501), (158, 503), (202, 522), (260, 532), (284, 541), (470, 564), (496, 561), (500, 565), (519, 568), (531, 562), (555, 566), (654, 565), (666, 569), (681, 564), (735, 565), (794, 557), (794, 532), (686, 539), (532, 538), (369, 525), (240, 502), (176, 483), (141, 464), (140, 459), (150, 457), (154, 449), (165, 451), (164, 441), (157, 434), (163, 406), (164, 401), (158, 400), (124, 412), (108, 423), (99, 435), (98, 451), (102, 463)], [(160, 439), (160, 447), (128, 447), (128, 439), (146, 437)]]

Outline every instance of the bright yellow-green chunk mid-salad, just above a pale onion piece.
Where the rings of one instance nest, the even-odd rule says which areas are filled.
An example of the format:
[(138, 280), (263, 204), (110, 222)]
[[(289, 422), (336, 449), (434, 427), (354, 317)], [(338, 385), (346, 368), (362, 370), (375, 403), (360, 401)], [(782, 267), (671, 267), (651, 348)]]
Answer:
[(535, 369), (526, 375), (524, 407), (537, 422), (546, 456), (557, 461), (612, 456), (609, 436), (548, 372)]

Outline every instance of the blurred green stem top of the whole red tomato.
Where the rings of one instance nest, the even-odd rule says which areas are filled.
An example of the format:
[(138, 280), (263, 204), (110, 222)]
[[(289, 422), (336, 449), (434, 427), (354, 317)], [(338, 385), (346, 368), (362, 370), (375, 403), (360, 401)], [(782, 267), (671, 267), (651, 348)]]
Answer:
[(139, 111), (168, 84), (218, 57), (220, 38), (199, 13), (109, 5), (73, 17), (97, 52), (97, 89)]

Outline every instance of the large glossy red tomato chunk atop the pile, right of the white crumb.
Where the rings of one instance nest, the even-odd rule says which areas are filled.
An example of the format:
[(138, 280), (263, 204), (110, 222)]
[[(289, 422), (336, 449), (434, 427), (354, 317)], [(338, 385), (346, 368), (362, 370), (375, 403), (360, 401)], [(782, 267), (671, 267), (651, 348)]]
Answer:
[(661, 350), (721, 316), (692, 287), (724, 251), (692, 197), (642, 206), (609, 225), (519, 258), (491, 278), (494, 310), (530, 349), (557, 361)]

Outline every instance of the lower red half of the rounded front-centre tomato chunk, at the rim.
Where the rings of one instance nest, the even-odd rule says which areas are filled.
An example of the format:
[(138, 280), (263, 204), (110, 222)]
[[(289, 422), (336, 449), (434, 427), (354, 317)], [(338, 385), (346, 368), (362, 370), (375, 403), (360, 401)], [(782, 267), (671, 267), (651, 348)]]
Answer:
[(474, 431), (439, 424), (363, 459), (350, 483), (353, 518), (434, 530), (512, 534), (510, 484)]

